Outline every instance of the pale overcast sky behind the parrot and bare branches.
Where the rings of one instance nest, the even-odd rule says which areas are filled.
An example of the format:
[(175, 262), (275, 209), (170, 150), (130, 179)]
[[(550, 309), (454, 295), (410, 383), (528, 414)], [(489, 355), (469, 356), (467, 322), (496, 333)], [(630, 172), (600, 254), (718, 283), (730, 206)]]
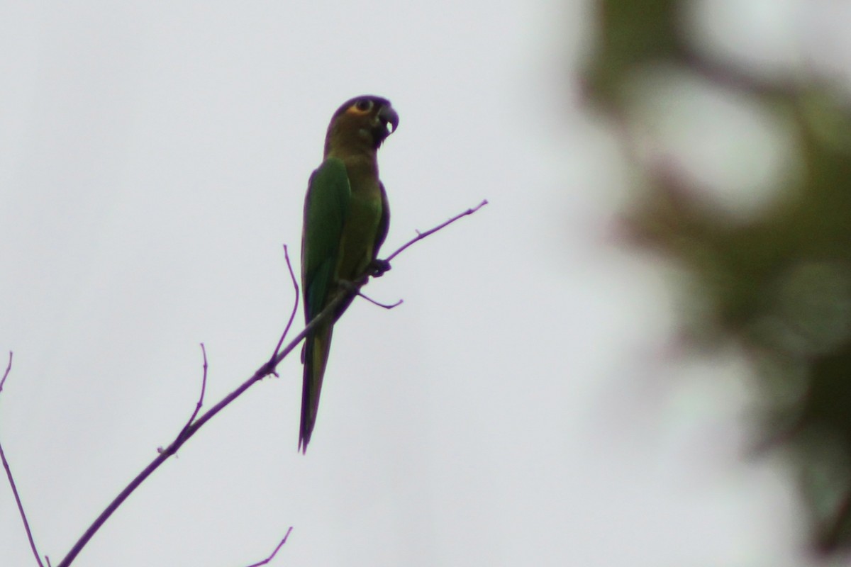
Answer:
[[(698, 4), (706, 42), (749, 31), (722, 56), (800, 64), (800, 3)], [(198, 343), (207, 406), (271, 354), (328, 119), (380, 94), (385, 252), (490, 205), (341, 320), (306, 456), (292, 357), (75, 564), (246, 565), (289, 526), (274, 565), (804, 564), (788, 474), (743, 458), (745, 369), (677, 357), (669, 270), (618, 245), (592, 31), (588, 2), (0, 1), (0, 439), (42, 552), (174, 438)], [(2, 481), (0, 563), (31, 562)]]

